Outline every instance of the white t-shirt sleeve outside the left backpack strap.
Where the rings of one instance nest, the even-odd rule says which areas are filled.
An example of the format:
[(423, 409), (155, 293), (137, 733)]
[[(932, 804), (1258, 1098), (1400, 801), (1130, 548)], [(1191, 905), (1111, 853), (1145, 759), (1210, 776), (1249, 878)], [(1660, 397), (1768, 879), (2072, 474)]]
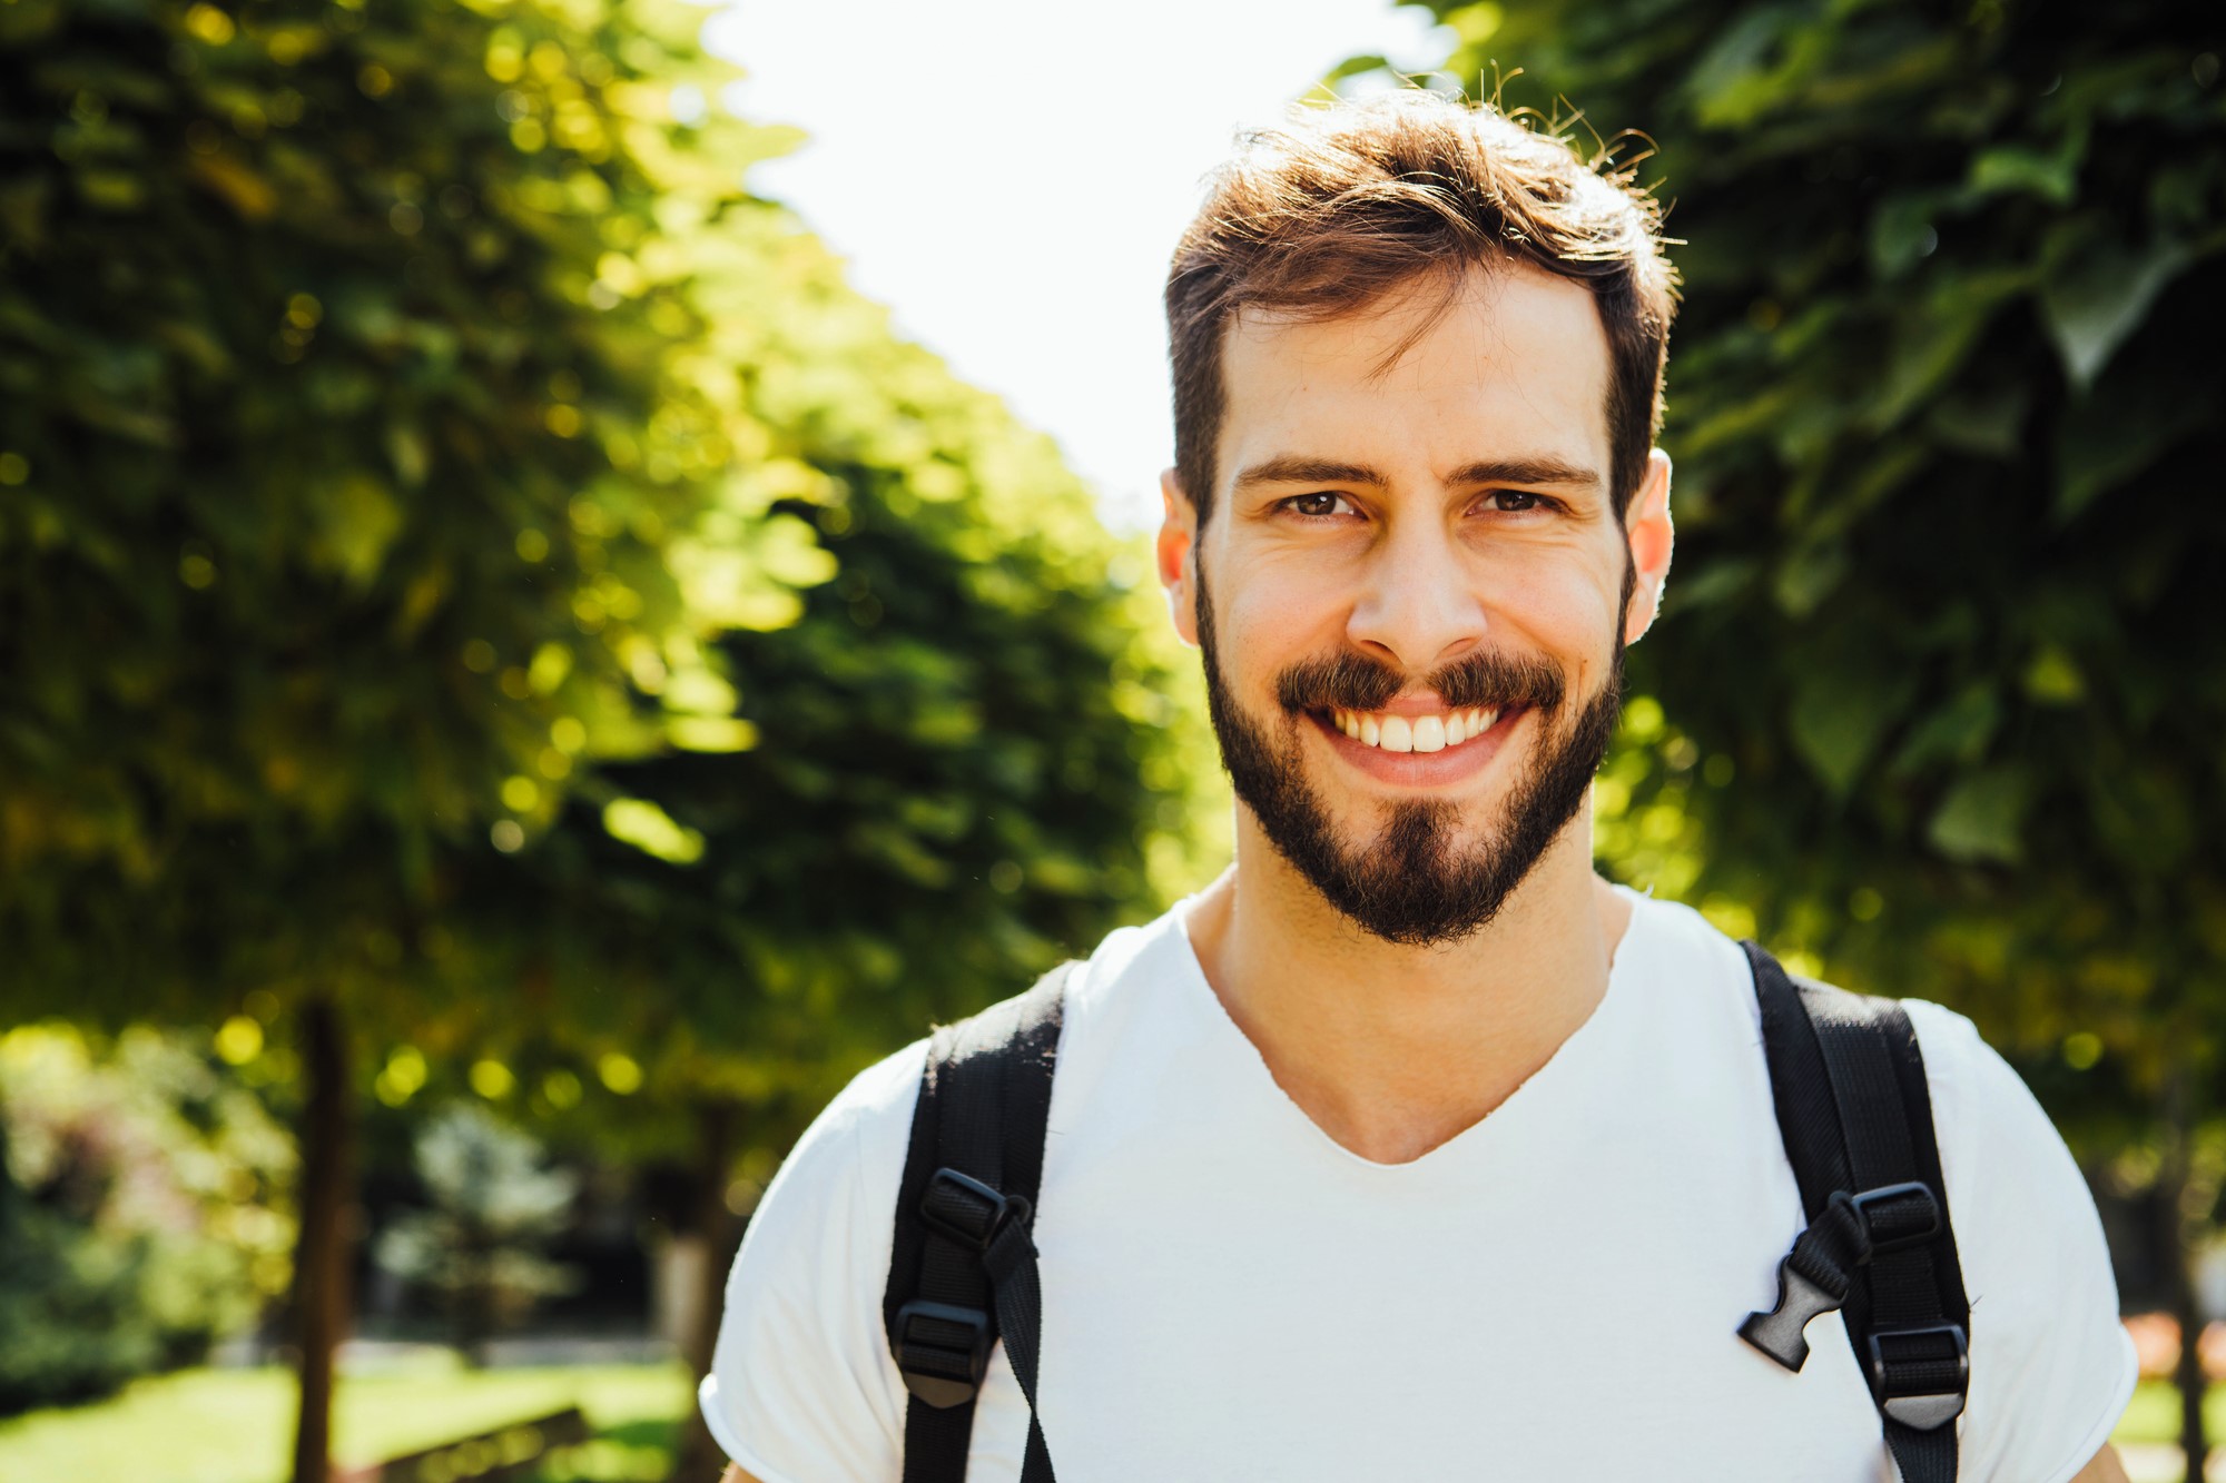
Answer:
[(859, 1073), (766, 1189), (726, 1285), (710, 1434), (761, 1483), (897, 1483), (902, 1378), (881, 1329), (926, 1047)]

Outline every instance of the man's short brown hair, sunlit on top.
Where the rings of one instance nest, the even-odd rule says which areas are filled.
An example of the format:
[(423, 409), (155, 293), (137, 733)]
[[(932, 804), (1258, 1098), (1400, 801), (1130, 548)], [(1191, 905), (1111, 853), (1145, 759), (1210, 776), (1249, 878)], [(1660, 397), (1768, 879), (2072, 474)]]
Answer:
[(1661, 207), (1629, 169), (1587, 165), (1567, 140), (1491, 105), (1418, 87), (1296, 109), (1282, 129), (1244, 134), (1166, 274), (1175, 477), (1200, 523), (1213, 505), (1213, 443), (1227, 412), (1222, 338), (1238, 312), (1338, 318), (1425, 274), (1445, 278), (1442, 312), (1465, 269), (1509, 261), (1594, 294), (1612, 367), (1609, 481), (1621, 512), (1661, 423), (1676, 283)]

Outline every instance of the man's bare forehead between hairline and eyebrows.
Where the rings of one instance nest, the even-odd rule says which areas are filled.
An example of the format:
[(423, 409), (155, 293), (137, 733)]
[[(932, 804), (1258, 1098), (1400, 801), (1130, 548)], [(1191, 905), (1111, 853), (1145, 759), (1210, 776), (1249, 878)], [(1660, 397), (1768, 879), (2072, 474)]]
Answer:
[(1273, 456), (1449, 470), (1552, 456), (1607, 472), (1607, 332), (1592, 292), (1538, 267), (1469, 269), (1447, 305), (1409, 283), (1356, 314), (1242, 312), (1222, 343), (1215, 477)]

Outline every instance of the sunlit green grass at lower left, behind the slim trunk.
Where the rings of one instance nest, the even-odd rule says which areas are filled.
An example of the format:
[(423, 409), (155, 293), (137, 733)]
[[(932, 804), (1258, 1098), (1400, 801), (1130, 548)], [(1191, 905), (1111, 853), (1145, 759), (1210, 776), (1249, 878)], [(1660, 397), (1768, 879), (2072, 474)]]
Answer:
[[(508, 1421), (579, 1405), (594, 1441), (554, 1456), (550, 1483), (654, 1483), (672, 1465), (672, 1427), (690, 1405), (679, 1365), (461, 1369), (412, 1365), (345, 1376), (334, 1456), (370, 1463)], [(7, 1483), (283, 1483), (294, 1438), (285, 1369), (187, 1369), (111, 1401), (0, 1421)]]

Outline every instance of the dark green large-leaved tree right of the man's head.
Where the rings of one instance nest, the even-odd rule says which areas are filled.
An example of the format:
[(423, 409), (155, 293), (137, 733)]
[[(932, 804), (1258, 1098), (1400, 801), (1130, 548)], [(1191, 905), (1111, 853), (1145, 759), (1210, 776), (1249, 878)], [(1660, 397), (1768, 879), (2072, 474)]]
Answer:
[(2090, 1147), (2161, 1129), (2177, 1211), (2226, 1071), (2219, 11), (1431, 9), (1683, 243), (1661, 706), (1603, 853), (1970, 1011)]

